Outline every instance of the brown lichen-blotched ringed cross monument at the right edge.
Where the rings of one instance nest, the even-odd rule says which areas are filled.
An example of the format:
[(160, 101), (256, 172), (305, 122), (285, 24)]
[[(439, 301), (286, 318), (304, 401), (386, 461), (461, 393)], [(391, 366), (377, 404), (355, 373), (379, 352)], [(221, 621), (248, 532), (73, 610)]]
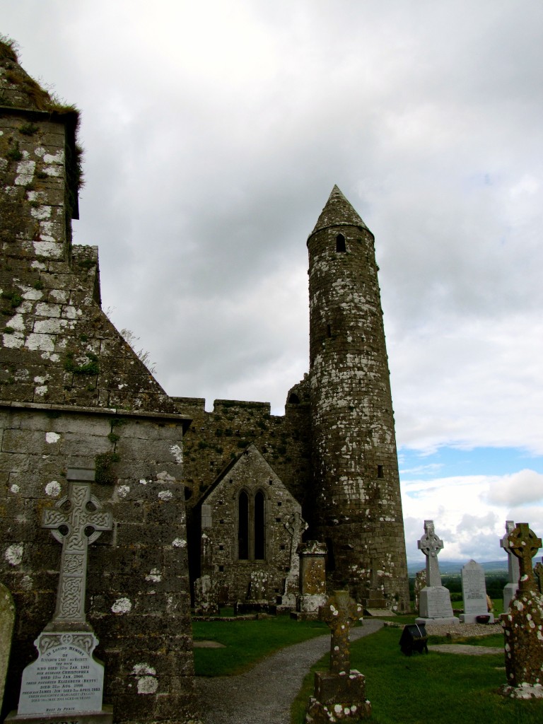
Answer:
[(502, 691), (519, 699), (543, 698), (543, 594), (531, 568), (541, 538), (528, 523), (518, 523), (508, 536), (508, 546), (518, 558), (521, 576), (508, 612), (502, 615), (508, 681)]

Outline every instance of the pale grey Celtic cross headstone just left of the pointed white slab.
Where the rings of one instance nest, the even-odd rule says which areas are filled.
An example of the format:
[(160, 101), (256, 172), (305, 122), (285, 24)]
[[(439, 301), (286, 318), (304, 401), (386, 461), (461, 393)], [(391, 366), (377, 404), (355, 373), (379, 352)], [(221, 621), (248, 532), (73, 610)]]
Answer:
[(434, 521), (424, 521), (424, 536), (418, 541), (418, 549), (426, 556), (426, 586), (420, 593), (420, 616), (416, 623), (458, 623), (452, 615), (450, 592), (441, 584), (437, 554), (443, 541), (434, 530)]

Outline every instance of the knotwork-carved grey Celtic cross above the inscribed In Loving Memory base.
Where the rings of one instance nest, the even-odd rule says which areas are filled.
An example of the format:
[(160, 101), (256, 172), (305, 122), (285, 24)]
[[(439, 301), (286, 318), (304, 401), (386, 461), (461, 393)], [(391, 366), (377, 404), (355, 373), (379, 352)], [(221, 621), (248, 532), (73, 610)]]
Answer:
[(55, 508), (43, 510), (41, 523), (62, 543), (56, 609), (46, 627), (53, 631), (90, 628), (85, 618), (88, 546), (102, 531), (110, 531), (113, 527), (111, 512), (101, 510), (98, 498), (90, 494), (94, 471), (69, 470), (67, 478), (68, 494), (56, 503)]

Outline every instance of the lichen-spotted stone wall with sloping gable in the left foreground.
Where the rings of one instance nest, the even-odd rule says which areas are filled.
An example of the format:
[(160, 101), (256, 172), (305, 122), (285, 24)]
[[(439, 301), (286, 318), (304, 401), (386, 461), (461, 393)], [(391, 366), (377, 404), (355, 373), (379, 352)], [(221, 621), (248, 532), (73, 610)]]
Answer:
[[(122, 721), (195, 714), (182, 486), (189, 421), (100, 307), (98, 253), (72, 247), (77, 111), (0, 43), (0, 578), (16, 607), (4, 711), (51, 619), (61, 546), (42, 511), (95, 468), (114, 528), (90, 547), (86, 610)], [(165, 622), (167, 621), (167, 626)]]

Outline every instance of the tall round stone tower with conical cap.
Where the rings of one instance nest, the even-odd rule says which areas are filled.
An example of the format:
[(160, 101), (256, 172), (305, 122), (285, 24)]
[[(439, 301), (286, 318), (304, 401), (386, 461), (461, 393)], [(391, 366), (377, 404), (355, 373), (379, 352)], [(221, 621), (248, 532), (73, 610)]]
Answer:
[(333, 586), (409, 609), (374, 236), (337, 186), (308, 237), (314, 497)]

